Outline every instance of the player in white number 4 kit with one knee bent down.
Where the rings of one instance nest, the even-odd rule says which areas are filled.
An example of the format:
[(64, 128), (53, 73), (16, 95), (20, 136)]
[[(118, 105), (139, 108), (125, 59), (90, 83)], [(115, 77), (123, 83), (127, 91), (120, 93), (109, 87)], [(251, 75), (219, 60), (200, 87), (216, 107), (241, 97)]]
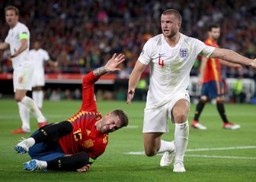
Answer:
[[(143, 121), (144, 149), (148, 156), (164, 152), (160, 165), (171, 165), (174, 172), (184, 172), (184, 153), (187, 149), (189, 126), (187, 115), (190, 96), (187, 86), (190, 70), (197, 55), (222, 58), (226, 61), (256, 67), (256, 59), (245, 58), (228, 49), (205, 45), (180, 33), (181, 14), (168, 9), (161, 16), (162, 34), (149, 39), (130, 75), (127, 103), (133, 99), (136, 85), (147, 65), (150, 66), (150, 84)], [(168, 132), (168, 118), (175, 124), (174, 141), (161, 140)]]

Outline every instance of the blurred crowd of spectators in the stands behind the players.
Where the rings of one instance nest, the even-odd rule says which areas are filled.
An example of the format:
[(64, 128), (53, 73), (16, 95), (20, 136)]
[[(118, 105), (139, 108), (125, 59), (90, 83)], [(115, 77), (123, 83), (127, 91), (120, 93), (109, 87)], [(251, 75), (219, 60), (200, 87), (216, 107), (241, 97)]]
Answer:
[[(129, 77), (146, 40), (161, 33), (160, 16), (167, 8), (181, 12), (181, 33), (204, 40), (207, 26), (216, 23), (222, 29), (220, 47), (256, 57), (254, 0), (2, 0), (2, 42), (9, 30), (4, 18), (7, 5), (15, 5), (21, 11), (21, 22), (30, 29), (30, 42), (40, 40), (43, 49), (59, 61), (59, 67), (46, 69), (48, 72), (84, 74), (103, 65), (114, 52), (123, 52), (126, 62), (119, 76)], [(11, 71), (7, 57), (7, 51), (0, 52), (0, 73)], [(196, 62), (191, 74), (197, 74), (198, 66)], [(255, 79), (254, 72), (245, 67), (239, 74)], [(238, 77), (235, 70), (227, 69), (225, 73)]]

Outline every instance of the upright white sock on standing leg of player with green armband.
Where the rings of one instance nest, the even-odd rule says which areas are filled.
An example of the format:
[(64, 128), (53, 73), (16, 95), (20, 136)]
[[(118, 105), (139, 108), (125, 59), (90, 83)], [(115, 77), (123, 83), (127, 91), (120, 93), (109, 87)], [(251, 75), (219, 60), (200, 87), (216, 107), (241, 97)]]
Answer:
[(29, 109), (23, 105), (21, 102), (18, 102), (18, 109), (21, 117), (22, 122), (22, 130), (26, 132), (30, 132), (30, 115), (29, 115)]

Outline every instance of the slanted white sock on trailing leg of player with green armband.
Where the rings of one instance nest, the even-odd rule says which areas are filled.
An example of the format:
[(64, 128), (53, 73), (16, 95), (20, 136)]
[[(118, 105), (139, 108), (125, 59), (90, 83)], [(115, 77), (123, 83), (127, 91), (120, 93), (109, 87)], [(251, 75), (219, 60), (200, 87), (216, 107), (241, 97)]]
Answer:
[(24, 98), (21, 99), (21, 103), (26, 105), (27, 108), (30, 108), (30, 110), (34, 113), (35, 117), (37, 118), (38, 123), (43, 123), (44, 121), (46, 121), (46, 118), (43, 117), (42, 112), (37, 107), (37, 104), (36, 102), (34, 102), (33, 99), (31, 99), (28, 96), (24, 96)]

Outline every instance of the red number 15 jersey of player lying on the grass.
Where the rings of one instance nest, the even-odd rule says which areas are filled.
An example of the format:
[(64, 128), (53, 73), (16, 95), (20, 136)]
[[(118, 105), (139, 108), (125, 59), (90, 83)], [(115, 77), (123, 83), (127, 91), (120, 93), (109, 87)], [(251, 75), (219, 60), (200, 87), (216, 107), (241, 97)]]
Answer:
[(72, 123), (72, 133), (59, 139), (59, 145), (66, 154), (87, 152), (89, 158), (95, 159), (107, 147), (108, 134), (95, 129), (95, 122), (102, 118), (94, 97), (94, 83), (97, 80), (92, 71), (83, 78), (82, 107), (67, 120)]

